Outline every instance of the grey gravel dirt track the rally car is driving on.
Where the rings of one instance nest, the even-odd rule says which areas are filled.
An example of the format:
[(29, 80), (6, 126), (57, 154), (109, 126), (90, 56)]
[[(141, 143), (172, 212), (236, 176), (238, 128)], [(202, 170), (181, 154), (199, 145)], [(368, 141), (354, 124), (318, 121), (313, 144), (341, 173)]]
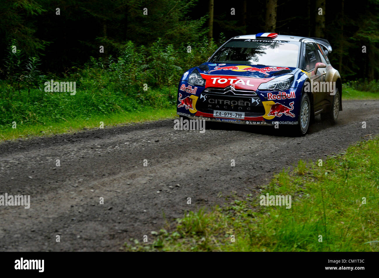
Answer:
[(0, 251), (118, 251), (163, 227), (163, 214), (170, 222), (224, 203), (220, 193), (256, 194), (299, 159), (324, 159), (379, 133), (379, 101), (345, 101), (343, 109), (337, 125), (316, 118), (295, 138), (227, 123), (201, 134), (164, 120), (1, 143), (0, 195), (30, 195), (31, 205), (0, 206)]

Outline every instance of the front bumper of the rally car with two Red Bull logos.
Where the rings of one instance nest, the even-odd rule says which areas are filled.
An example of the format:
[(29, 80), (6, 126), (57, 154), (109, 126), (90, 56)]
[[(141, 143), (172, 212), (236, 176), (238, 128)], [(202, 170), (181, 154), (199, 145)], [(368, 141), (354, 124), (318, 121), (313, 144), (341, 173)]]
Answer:
[[(177, 115), (193, 120), (224, 123), (272, 126), (298, 124), (301, 89), (290, 88), (283, 92), (235, 90), (191, 86), (186, 81), (179, 84)], [(237, 90), (238, 91), (238, 90)], [(242, 112), (241, 118), (214, 116), (214, 111)]]

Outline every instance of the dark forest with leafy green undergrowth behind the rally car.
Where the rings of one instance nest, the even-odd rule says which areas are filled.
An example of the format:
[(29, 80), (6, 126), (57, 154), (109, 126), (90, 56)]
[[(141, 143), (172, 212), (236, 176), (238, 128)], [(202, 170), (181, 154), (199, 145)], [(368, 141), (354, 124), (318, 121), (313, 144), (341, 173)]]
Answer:
[[(344, 86), (377, 92), (379, 1), (2, 0), (0, 126), (174, 107), (177, 84), (227, 39), (327, 39)], [(75, 98), (44, 92), (75, 82)], [(346, 88), (347, 88), (346, 87)]]

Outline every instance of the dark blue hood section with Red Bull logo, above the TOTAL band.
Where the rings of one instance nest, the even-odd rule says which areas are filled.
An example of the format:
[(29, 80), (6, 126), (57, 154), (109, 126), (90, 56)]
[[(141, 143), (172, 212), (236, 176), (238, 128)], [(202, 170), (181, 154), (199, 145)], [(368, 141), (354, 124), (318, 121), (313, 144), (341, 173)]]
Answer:
[(250, 78), (276, 78), (295, 73), (298, 68), (274, 67), (264, 65), (209, 63), (199, 65), (199, 72), (204, 75), (242, 76)]

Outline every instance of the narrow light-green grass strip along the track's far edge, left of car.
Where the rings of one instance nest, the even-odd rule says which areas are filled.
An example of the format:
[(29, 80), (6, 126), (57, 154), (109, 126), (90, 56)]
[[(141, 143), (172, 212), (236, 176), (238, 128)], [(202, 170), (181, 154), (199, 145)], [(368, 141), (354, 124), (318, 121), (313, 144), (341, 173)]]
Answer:
[(16, 129), (6, 127), (0, 130), (0, 141), (17, 138), (30, 138), (34, 136), (48, 136), (66, 132), (75, 132), (82, 129), (99, 128), (100, 122), (104, 127), (124, 125), (128, 123), (139, 123), (144, 121), (157, 121), (165, 118), (174, 118), (176, 109), (113, 113), (110, 115), (98, 115), (91, 118), (76, 118), (70, 121), (48, 122), (44, 124), (17, 124)]

